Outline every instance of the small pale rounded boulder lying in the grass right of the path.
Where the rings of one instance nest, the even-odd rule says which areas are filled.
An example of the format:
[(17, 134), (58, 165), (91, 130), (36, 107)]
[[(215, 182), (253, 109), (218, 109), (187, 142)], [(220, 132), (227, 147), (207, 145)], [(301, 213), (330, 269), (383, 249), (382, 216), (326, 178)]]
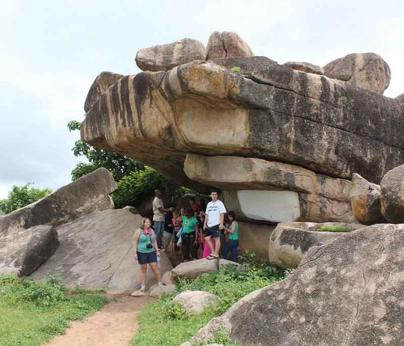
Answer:
[(178, 303), (182, 309), (200, 315), (207, 306), (218, 299), (217, 295), (209, 292), (186, 290), (175, 296), (173, 304)]

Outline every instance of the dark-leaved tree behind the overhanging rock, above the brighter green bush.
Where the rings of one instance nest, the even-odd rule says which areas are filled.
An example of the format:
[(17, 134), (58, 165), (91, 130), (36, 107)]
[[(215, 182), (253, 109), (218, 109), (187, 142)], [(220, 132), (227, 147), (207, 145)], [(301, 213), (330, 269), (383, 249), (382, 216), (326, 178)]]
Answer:
[[(70, 121), (67, 127), (70, 131), (80, 130), (81, 124), (78, 121)], [(85, 156), (89, 164), (80, 162), (72, 170), (72, 180), (76, 180), (97, 168), (104, 167), (114, 176), (116, 181), (121, 180), (131, 172), (142, 170), (143, 165), (127, 156), (109, 152), (103, 149), (96, 149), (92, 145), (77, 140), (72, 148), (74, 156)]]

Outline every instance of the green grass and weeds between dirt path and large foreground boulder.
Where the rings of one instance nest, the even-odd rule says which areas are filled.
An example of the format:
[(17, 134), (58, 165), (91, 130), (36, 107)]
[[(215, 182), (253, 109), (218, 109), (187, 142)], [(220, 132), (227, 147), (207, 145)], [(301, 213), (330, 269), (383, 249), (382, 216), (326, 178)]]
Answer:
[[(195, 280), (181, 279), (177, 291), (164, 295), (156, 303), (149, 304), (139, 315), (139, 331), (132, 341), (136, 346), (164, 344), (178, 346), (188, 341), (199, 328), (212, 318), (222, 315), (244, 295), (270, 285), (285, 277), (280, 269), (257, 259), (254, 253), (241, 257), (244, 271), (228, 265), (220, 271), (202, 275)], [(174, 296), (185, 290), (203, 290), (219, 296), (218, 303), (206, 308), (204, 313), (194, 316), (179, 305), (172, 304)], [(225, 332), (218, 333), (211, 342), (230, 344)]]

